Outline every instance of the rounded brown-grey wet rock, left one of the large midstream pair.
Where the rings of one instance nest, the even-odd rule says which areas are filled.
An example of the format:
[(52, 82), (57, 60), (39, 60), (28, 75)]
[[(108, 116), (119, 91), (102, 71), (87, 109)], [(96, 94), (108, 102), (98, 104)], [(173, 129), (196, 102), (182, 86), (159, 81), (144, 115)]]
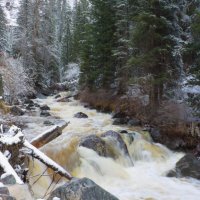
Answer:
[(97, 152), (100, 156), (106, 157), (108, 154), (105, 141), (96, 135), (89, 135), (87, 137), (82, 138), (79, 146), (92, 149), (95, 152)]

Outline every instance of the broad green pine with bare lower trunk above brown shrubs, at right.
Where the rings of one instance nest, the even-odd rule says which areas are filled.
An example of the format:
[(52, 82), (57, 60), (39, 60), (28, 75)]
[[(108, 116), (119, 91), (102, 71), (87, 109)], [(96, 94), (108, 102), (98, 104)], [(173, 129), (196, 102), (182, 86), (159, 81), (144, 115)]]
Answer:
[(133, 13), (130, 70), (133, 77), (150, 76), (150, 107), (155, 109), (162, 100), (164, 84), (175, 77), (173, 6), (170, 1), (136, 1)]

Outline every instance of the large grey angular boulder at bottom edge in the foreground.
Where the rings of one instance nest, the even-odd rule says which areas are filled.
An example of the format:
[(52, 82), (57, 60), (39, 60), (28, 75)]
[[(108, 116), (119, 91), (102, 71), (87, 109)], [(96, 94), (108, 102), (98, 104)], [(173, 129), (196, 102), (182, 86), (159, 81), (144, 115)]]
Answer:
[(55, 189), (48, 200), (119, 200), (88, 178), (72, 179)]

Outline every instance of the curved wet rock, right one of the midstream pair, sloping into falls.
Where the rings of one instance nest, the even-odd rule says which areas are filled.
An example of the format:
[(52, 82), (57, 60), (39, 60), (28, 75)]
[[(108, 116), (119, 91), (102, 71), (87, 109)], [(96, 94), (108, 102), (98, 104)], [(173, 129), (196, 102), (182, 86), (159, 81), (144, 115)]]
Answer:
[(125, 155), (129, 156), (127, 146), (119, 133), (117, 133), (115, 131), (107, 131), (107, 132), (103, 133), (101, 135), (101, 137), (103, 137), (103, 138), (110, 137), (110, 138), (114, 139), (114, 141), (119, 146), (119, 148), (123, 151), (123, 153)]

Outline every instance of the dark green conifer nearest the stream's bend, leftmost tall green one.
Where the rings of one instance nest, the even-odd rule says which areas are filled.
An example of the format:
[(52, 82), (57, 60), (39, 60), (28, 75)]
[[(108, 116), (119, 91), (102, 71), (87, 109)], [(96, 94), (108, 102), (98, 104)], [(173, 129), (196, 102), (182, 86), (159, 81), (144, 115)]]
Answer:
[(82, 52), (82, 72), (91, 88), (109, 87), (115, 77), (116, 44), (114, 0), (91, 0), (91, 21)]

